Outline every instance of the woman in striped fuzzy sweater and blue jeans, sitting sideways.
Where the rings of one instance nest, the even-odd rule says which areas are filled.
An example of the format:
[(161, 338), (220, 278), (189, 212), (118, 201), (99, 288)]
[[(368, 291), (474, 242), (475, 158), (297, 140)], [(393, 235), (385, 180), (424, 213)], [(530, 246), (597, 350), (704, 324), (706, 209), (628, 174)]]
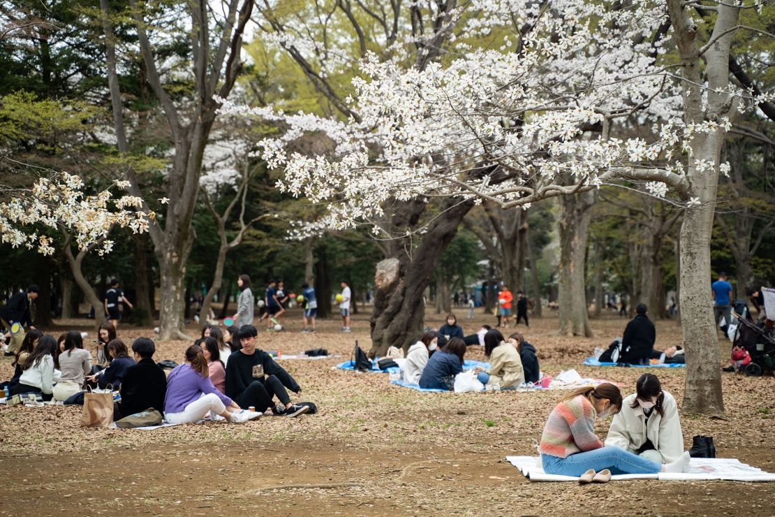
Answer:
[(594, 419), (606, 419), (622, 409), (622, 393), (605, 382), (596, 388), (580, 388), (560, 399), (546, 420), (541, 435), (541, 463), (546, 474), (584, 477), (598, 473), (598, 481), (611, 474), (658, 474), (682, 472), (689, 453), (661, 465), (614, 446), (604, 446), (594, 434)]

